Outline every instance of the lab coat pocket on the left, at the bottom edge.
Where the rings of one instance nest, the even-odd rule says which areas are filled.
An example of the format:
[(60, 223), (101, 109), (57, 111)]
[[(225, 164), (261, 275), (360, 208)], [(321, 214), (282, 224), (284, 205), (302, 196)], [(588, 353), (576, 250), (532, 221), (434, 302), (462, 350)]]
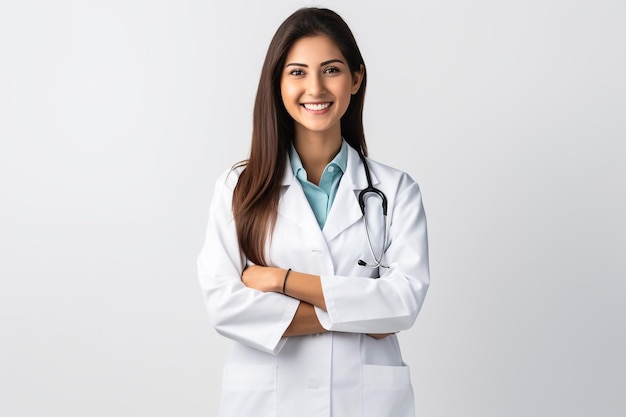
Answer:
[(220, 416), (276, 416), (276, 365), (227, 363)]

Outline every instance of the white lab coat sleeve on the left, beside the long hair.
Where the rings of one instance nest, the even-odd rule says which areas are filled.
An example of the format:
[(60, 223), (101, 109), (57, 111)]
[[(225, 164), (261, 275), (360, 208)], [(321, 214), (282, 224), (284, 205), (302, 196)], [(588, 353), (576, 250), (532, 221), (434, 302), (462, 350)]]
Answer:
[(200, 287), (209, 320), (219, 334), (275, 355), (286, 342), (283, 333), (299, 302), (241, 282), (246, 261), (239, 250), (231, 208), (237, 178), (236, 172), (230, 172), (216, 182), (206, 239), (198, 256)]

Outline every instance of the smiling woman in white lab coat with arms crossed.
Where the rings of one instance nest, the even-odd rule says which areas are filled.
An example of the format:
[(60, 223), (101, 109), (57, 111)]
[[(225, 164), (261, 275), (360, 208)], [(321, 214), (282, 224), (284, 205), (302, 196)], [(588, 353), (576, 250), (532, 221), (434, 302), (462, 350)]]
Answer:
[(418, 185), (365, 158), (366, 79), (330, 10), (296, 11), (270, 43), (250, 158), (217, 181), (198, 260), (234, 341), (222, 416), (413, 416), (396, 333), (428, 288), (426, 220)]

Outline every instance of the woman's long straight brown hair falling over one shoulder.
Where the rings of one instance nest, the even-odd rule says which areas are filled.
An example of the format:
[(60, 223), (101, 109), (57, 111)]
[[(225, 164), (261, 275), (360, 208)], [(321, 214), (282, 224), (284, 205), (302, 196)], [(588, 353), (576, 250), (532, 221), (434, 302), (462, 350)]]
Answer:
[(294, 135), (294, 121), (280, 93), (287, 53), (306, 36), (332, 39), (354, 74), (363, 67), (359, 91), (341, 118), (341, 134), (355, 149), (367, 155), (363, 131), (363, 104), (367, 81), (365, 63), (348, 25), (335, 12), (302, 8), (289, 16), (270, 42), (254, 103), (250, 157), (235, 167), (245, 167), (233, 194), (233, 215), (239, 247), (257, 265), (266, 265), (265, 244), (276, 223), (280, 186)]

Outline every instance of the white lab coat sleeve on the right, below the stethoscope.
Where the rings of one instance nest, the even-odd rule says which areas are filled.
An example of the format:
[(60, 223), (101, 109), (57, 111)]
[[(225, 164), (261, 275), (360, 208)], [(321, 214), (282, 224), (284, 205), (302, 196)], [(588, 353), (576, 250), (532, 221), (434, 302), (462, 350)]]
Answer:
[(419, 186), (404, 174), (393, 206), (389, 243), (380, 278), (321, 276), (326, 311), (316, 308), (329, 331), (396, 333), (410, 328), (428, 290), (426, 216)]

